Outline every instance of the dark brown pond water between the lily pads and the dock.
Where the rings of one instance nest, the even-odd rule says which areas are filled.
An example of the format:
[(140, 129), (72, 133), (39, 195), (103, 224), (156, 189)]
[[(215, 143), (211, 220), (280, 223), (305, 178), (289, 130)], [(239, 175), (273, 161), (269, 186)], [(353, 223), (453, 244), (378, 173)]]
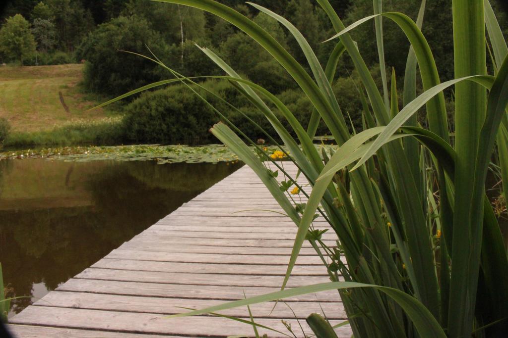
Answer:
[(10, 316), (241, 164), (0, 161), (0, 262)]

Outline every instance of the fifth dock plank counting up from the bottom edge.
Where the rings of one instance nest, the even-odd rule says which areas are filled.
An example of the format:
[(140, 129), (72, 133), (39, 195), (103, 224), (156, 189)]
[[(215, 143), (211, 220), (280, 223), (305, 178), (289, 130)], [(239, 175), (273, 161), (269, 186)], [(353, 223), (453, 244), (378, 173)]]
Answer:
[[(228, 275), (228, 274), (198, 274), (198, 273), (169, 273), (160, 271), (137, 271), (118, 269), (88, 268), (74, 278), (100, 279), (111, 281), (130, 281), (164, 284), (194, 285), (224, 285), (224, 286), (269, 286), (280, 287), (282, 276), (262, 275)], [(289, 287), (304, 286), (316, 283), (329, 282), (327, 276), (292, 276), (288, 282)]]

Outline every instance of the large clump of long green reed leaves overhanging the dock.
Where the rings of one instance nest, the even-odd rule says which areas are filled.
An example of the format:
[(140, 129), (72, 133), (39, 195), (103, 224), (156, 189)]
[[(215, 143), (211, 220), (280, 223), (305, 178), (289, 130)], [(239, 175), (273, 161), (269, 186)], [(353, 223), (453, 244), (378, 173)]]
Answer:
[[(382, 13), (382, 1), (374, 0), (374, 15), (345, 27), (328, 0), (316, 0), (337, 32), (328, 42), (335, 48), (325, 68), (291, 22), (249, 3), (294, 36), (312, 76), (263, 27), (225, 5), (213, 0), (158, 1), (202, 9), (244, 31), (288, 71), (314, 107), (305, 130), (277, 97), (242, 79), (219, 56), (202, 48), (227, 73), (215, 78), (234, 83), (270, 121), (287, 149), (281, 147), (280, 151), (298, 166), (313, 188), (305, 206), (295, 206), (288, 194), (294, 179), (278, 182), (272, 170), (276, 167), (283, 172), (276, 162), (278, 156), (272, 159), (259, 146), (253, 152), (237, 135), (243, 136), (234, 125), (215, 125), (211, 132), (259, 175), (296, 223), (298, 233), (280, 291), (179, 316), (337, 289), (357, 337), (455, 338), (473, 332), (477, 336), (496, 336), (508, 331), (506, 247), (485, 196), (491, 159), (499, 162), (503, 180), (508, 179), (508, 48), (488, 0), (453, 1), (456, 78), (444, 83), (440, 83), (431, 49), (421, 32), (425, 1), (416, 22), (402, 13)], [(379, 64), (384, 69), (383, 19), (395, 22), (411, 45), (402, 109), (395, 74), (390, 88), (382, 71), (383, 89), (379, 90), (349, 34), (373, 20)], [(493, 52), (492, 75), (486, 74), (485, 27)], [(365, 128), (356, 134), (348, 130), (330, 85), (343, 53), (352, 59), (363, 84), (359, 96)], [(124, 96), (176, 82), (189, 85), (200, 95), (190, 87), (194, 79), (173, 71), (156, 57), (150, 59), (166, 67), (175, 79)], [(423, 85), (423, 93), (418, 96), (417, 65)], [(450, 130), (443, 90), (453, 86), (455, 129)], [(271, 106), (289, 121), (296, 139), (276, 118)], [(423, 107), (428, 128), (422, 128), (416, 119), (416, 112)], [(321, 119), (339, 144), (335, 152), (323, 154), (324, 162), (312, 144)], [(497, 156), (493, 155), (494, 148)], [(272, 169), (264, 161), (270, 161)], [(506, 185), (503, 189), (506, 191)], [(319, 236), (312, 236), (316, 211), (336, 233), (340, 243), (337, 247), (327, 247)], [(286, 289), (305, 240), (323, 258), (332, 282)], [(329, 329), (326, 321), (309, 321), (315, 333)]]

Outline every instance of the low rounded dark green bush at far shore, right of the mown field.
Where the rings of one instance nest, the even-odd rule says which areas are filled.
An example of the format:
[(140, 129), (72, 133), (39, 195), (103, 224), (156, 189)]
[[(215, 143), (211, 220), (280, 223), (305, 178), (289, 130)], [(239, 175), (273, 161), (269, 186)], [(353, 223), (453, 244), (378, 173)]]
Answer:
[[(250, 119), (279, 141), (268, 120), (230, 83), (206, 81), (203, 86), (213, 94), (201, 89), (200, 94), (248, 138), (268, 139), (259, 127), (249, 121)], [(302, 98), (302, 94), (296, 90), (285, 91), (279, 97), (288, 104), (296, 118), (306, 128), (312, 112), (310, 102)], [(128, 142), (215, 143), (217, 140), (208, 132), (208, 129), (214, 123), (223, 120), (209, 105), (183, 85), (145, 93), (128, 105), (125, 110), (124, 128)], [(277, 109), (273, 111), (284, 127), (295, 135), (281, 113)], [(318, 134), (324, 133), (325, 130), (322, 123)]]

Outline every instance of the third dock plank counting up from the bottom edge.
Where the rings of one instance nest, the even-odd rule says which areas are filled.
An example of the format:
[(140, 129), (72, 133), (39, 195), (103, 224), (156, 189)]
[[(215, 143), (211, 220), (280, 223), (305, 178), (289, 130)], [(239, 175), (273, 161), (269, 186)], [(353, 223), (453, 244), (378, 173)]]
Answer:
[[(140, 297), (118, 294), (53, 291), (48, 293), (35, 304), (38, 306), (50, 306), (59, 308), (145, 312), (172, 315), (185, 312), (183, 308), (204, 309), (223, 303), (224, 301), (215, 301), (213, 299)], [(343, 305), (340, 302), (305, 302), (302, 304), (295, 302), (287, 302), (287, 304), (278, 302), (275, 304), (275, 302), (269, 302), (253, 304), (250, 306), (250, 310), (256, 316), (256, 318), (305, 319), (312, 312), (324, 312), (329, 319), (346, 318)], [(295, 315), (293, 315), (292, 310), (294, 311)], [(220, 313), (240, 318), (249, 317), (247, 307), (224, 310)]]

